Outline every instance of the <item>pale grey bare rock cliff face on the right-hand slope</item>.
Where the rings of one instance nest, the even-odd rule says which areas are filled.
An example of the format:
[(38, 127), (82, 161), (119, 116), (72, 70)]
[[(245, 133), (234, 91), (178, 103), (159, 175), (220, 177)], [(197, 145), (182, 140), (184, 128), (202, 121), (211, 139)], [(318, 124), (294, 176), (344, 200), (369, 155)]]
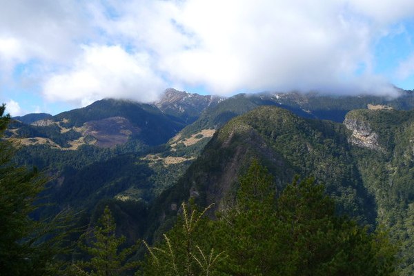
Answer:
[(378, 144), (377, 133), (373, 132), (368, 122), (353, 117), (352, 115), (347, 115), (344, 120), (344, 125), (348, 130), (352, 131), (351, 137), (348, 138), (350, 143), (373, 150), (383, 150)]

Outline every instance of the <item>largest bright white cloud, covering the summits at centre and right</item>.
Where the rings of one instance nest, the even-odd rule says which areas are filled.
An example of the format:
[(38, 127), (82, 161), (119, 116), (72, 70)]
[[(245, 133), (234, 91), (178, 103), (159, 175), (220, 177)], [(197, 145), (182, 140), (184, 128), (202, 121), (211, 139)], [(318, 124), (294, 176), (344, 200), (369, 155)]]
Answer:
[[(388, 17), (380, 16), (393, 7)], [(151, 52), (170, 83), (237, 90), (376, 92), (373, 50), (404, 1), (132, 1), (99, 17), (112, 37)], [(356, 73), (360, 66), (364, 72)], [(380, 83), (378, 83), (380, 81)], [(371, 87), (371, 88), (370, 88)]]

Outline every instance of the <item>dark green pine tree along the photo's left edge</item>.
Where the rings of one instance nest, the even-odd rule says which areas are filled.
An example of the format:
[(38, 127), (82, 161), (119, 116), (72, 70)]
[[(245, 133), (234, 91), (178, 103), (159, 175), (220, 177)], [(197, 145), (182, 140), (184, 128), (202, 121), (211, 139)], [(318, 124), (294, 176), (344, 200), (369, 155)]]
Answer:
[(49, 179), (14, 164), (19, 144), (4, 138), (10, 122), (5, 109), (0, 106), (0, 275), (58, 275), (73, 217), (66, 211), (37, 221), (30, 217)]

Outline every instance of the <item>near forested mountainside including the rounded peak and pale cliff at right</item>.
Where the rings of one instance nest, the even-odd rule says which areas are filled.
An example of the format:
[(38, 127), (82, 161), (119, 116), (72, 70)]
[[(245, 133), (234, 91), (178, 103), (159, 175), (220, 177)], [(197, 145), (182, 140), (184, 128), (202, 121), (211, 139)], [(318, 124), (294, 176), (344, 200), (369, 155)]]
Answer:
[[(374, 229), (384, 225), (402, 242), (402, 275), (413, 273), (414, 111), (353, 110), (344, 124), (304, 119), (274, 106), (236, 117), (220, 128), (154, 213), (174, 215), (195, 197), (216, 210), (231, 206), (237, 179), (253, 157), (275, 176), (279, 191), (293, 175), (313, 175), (337, 201), (337, 212)], [(161, 207), (162, 206), (162, 207)]]

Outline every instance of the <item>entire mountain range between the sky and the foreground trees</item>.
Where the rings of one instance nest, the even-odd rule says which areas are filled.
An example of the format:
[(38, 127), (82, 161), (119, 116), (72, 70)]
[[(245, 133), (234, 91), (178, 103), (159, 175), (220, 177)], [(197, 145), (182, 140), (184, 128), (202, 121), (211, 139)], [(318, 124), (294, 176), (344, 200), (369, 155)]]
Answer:
[(47, 169), (53, 179), (45, 200), (57, 204), (35, 215), (72, 206), (86, 208), (86, 221), (93, 221), (112, 204), (130, 239), (156, 241), (190, 197), (201, 207), (215, 202), (214, 210), (231, 206), (237, 180), (257, 158), (278, 193), (295, 175), (312, 175), (338, 213), (371, 230), (384, 225), (402, 244), (401, 275), (409, 275), (413, 108), (413, 92), (404, 90), (393, 98), (297, 92), (224, 98), (169, 89), (156, 103), (103, 99), (37, 121), (14, 118), (7, 135), (21, 137), (18, 164)]

